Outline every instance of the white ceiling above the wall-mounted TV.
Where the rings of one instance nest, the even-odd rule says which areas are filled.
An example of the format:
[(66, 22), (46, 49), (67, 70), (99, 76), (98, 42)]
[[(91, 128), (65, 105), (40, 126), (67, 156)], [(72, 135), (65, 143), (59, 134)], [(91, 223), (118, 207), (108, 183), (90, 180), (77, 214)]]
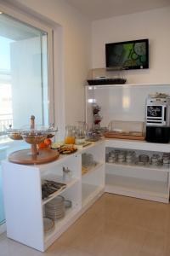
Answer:
[[(170, 0), (66, 0), (91, 20), (107, 19), (170, 5)], [(170, 15), (170, 14), (169, 14)]]

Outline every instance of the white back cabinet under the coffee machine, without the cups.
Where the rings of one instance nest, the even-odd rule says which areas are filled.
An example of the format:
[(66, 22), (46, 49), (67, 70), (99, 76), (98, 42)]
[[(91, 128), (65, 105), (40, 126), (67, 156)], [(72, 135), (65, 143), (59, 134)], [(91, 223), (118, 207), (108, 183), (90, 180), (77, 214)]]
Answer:
[[(133, 149), (141, 154), (169, 153), (169, 144), (127, 140), (106, 140), (106, 154), (111, 148)], [(105, 192), (141, 199), (169, 202), (169, 166), (138, 166), (127, 163), (105, 164)]]

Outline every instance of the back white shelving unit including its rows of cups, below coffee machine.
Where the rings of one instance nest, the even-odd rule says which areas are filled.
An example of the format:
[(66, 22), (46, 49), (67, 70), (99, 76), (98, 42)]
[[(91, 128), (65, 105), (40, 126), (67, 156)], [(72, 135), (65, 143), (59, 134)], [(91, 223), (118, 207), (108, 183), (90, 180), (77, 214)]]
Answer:
[[(105, 146), (105, 192), (169, 202), (170, 168), (162, 165), (169, 144), (112, 139)], [(110, 158), (115, 162), (108, 163)]]

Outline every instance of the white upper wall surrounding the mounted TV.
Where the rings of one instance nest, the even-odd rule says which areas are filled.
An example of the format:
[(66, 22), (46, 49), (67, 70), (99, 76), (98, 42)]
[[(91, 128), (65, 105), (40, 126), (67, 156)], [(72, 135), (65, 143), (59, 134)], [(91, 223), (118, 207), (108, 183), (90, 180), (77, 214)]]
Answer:
[[(92, 27), (93, 68), (105, 67), (105, 43), (149, 38), (150, 68), (123, 72), (129, 84), (170, 82), (170, 7), (96, 20)], [(103, 71), (99, 74), (103, 74)], [(112, 76), (116, 73), (107, 72)]]

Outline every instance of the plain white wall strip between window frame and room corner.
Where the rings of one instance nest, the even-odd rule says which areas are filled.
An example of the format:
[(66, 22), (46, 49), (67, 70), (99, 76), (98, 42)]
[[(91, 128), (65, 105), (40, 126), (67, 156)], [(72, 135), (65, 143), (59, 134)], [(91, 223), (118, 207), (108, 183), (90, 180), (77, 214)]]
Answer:
[(36, 11), (61, 26), (63, 84), (60, 86), (65, 87), (65, 123), (74, 124), (77, 120), (85, 119), (83, 84), (87, 79), (91, 63), (91, 23), (65, 0), (14, 0), (11, 2), (22, 4), (32, 12)]

